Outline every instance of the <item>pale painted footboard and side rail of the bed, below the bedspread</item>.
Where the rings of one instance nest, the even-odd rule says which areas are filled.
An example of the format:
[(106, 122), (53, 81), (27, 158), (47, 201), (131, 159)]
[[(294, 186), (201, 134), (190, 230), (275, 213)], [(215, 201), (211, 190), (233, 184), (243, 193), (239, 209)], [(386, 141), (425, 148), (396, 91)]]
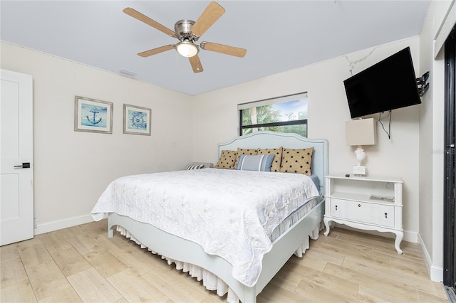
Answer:
[[(296, 222), (286, 233), (274, 240), (273, 248), (263, 258), (261, 275), (256, 285), (247, 287), (232, 277), (232, 265), (217, 255), (208, 255), (197, 243), (166, 233), (153, 225), (135, 221), (126, 216), (110, 213), (108, 237), (113, 237), (113, 226), (128, 230), (150, 250), (173, 260), (188, 262), (217, 275), (237, 294), (242, 302), (256, 302), (257, 295), (289, 260), (296, 249), (304, 243), (323, 220), (324, 200)], [(182, 249), (184, 248), (184, 249)]]

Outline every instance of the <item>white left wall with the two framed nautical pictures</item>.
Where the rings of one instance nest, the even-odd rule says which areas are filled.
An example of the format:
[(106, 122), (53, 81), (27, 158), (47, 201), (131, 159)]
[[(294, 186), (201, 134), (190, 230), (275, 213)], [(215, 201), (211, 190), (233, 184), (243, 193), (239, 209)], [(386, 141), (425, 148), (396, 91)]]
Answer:
[[(9, 43), (1, 43), (1, 68), (33, 77), (36, 233), (92, 220), (118, 176), (192, 161), (188, 95)], [(113, 102), (113, 134), (73, 130), (75, 95)], [(123, 134), (123, 103), (152, 109), (151, 136)]]

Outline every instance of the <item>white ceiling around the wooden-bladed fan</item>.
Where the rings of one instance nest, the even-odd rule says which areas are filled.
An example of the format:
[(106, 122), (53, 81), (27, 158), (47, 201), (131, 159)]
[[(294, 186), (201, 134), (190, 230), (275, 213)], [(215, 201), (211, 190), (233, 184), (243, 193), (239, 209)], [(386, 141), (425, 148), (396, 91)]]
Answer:
[(200, 50), (193, 73), (175, 50), (142, 58), (177, 39), (123, 13), (132, 7), (174, 30), (209, 1), (5, 1), (2, 41), (171, 90), (198, 95), (364, 48), (420, 35), (430, 1), (217, 1), (225, 14), (199, 38), (247, 48), (244, 58)]

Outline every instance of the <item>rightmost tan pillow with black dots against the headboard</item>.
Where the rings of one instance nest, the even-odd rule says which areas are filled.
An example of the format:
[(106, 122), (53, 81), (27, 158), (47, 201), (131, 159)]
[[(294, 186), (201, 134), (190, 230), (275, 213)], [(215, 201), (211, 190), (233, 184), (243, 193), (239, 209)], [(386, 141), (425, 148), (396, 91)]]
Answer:
[(312, 155), (314, 147), (308, 149), (286, 149), (282, 151), (280, 171), (283, 173), (296, 173), (311, 175)]

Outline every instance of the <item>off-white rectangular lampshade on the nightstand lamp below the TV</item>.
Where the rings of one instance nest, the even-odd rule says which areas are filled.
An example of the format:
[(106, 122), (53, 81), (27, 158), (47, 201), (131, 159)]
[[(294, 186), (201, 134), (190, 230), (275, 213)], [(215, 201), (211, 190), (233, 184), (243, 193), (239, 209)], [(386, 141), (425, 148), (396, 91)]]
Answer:
[(375, 145), (375, 121), (373, 118), (345, 122), (347, 145)]

